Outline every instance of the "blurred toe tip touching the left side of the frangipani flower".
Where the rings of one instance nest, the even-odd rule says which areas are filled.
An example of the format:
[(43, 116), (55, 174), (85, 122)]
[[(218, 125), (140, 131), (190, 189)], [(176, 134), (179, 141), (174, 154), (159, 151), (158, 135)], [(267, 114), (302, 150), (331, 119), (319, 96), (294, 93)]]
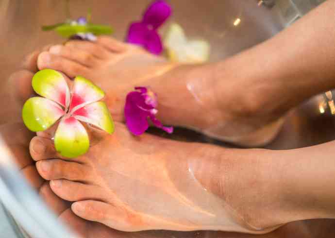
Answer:
[(23, 103), (33, 95), (32, 87), (33, 72), (19, 70), (9, 78), (10, 90), (19, 103)]

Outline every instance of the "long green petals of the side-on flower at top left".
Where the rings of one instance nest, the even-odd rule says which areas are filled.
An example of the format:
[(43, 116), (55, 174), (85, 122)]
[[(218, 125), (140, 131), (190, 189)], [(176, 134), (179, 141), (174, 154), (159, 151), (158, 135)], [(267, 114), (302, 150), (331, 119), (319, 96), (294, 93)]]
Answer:
[(55, 28), (55, 30), (56, 32), (58, 32), (58, 34), (66, 38), (77, 33), (92, 33), (95, 35), (113, 33), (113, 29), (110, 26), (94, 25), (94, 24), (86, 24), (86, 25), (64, 24)]

